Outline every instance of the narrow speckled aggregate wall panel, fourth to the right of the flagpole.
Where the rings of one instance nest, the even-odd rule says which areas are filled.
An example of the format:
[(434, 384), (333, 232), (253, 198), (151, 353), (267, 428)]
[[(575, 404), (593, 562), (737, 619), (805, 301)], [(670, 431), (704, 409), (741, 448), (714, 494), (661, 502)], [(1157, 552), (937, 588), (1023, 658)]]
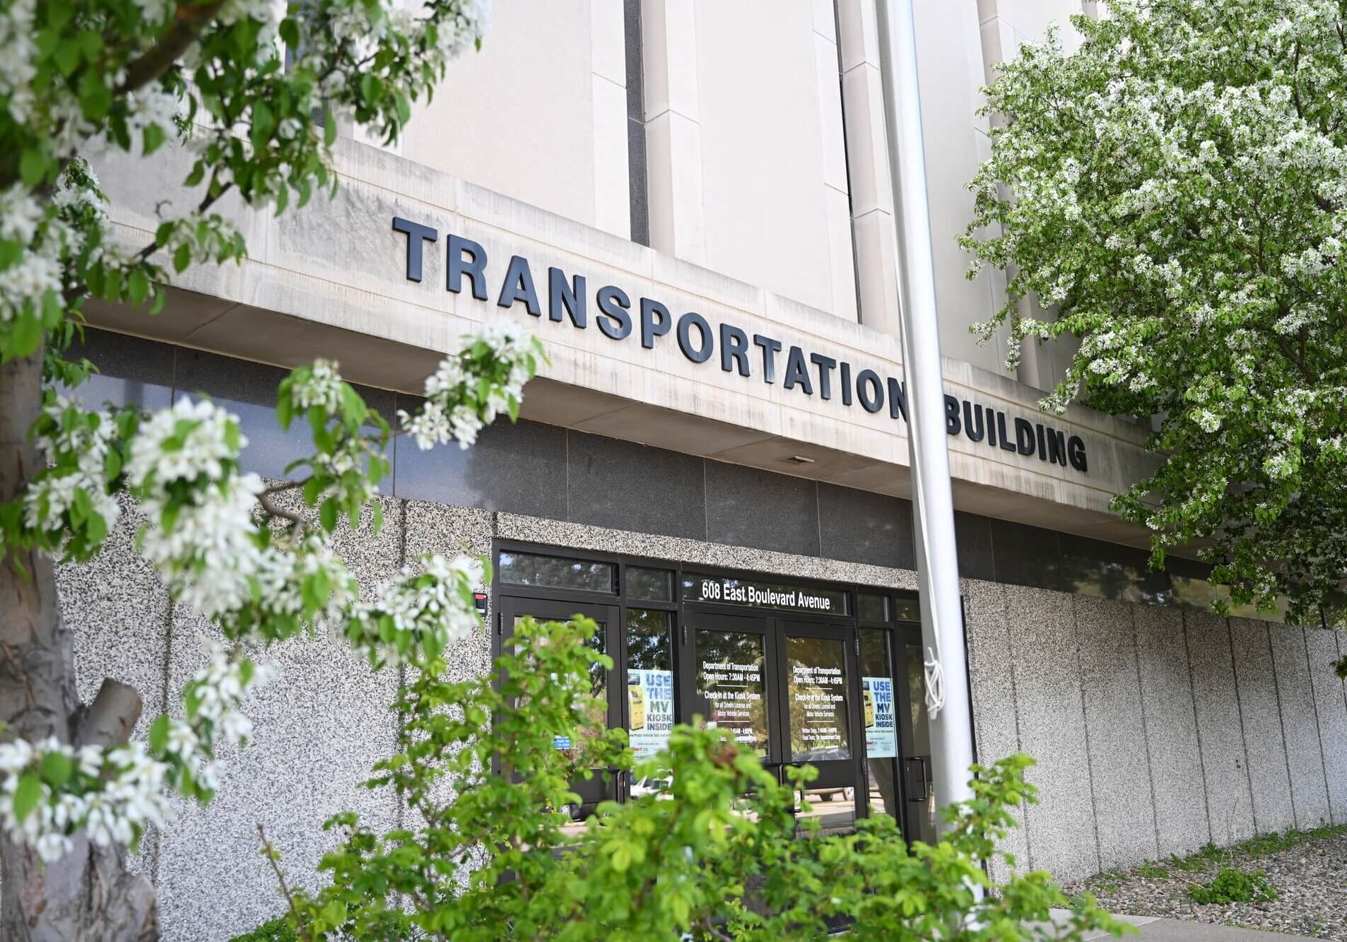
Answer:
[(1133, 625), (1157, 850), (1183, 856), (1211, 840), (1183, 612), (1136, 605)]

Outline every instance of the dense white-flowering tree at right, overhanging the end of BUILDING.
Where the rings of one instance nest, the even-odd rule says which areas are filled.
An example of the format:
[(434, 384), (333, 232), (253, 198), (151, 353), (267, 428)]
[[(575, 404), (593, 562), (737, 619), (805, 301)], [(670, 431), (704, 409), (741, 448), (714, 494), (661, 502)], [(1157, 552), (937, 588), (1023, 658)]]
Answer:
[[(1045, 400), (1158, 416), (1115, 500), (1235, 604), (1347, 615), (1347, 8), (1110, 0), (1001, 67), (964, 245), (1026, 337), (1082, 338)], [(985, 234), (990, 233), (990, 234)], [(1047, 318), (1020, 317), (1037, 296)], [(1339, 666), (1347, 672), (1347, 663)]]

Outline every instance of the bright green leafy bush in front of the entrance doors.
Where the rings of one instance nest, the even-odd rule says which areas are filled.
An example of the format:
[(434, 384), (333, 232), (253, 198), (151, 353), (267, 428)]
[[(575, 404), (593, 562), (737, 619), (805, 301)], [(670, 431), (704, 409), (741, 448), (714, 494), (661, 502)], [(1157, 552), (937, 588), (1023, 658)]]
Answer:
[[(404, 829), (377, 833), (356, 814), (327, 822), (341, 846), (321, 869), (331, 884), (292, 893), (300, 938), (496, 939), (1065, 939), (1121, 934), (1092, 898), (1067, 900), (1045, 872), (993, 881), (997, 842), (1014, 826), (1028, 756), (974, 767), (974, 798), (946, 809), (936, 844), (902, 840), (882, 814), (854, 833), (797, 823), (800, 787), (700, 724), (676, 726), (668, 749), (634, 763), (626, 733), (594, 718), (591, 668), (610, 667), (586, 640), (589, 620), (524, 620), (486, 677), (450, 683), (438, 659), (412, 664), (395, 709), (399, 753), (370, 787), (397, 792)], [(567, 736), (574, 749), (556, 749)], [(663, 780), (667, 791), (601, 803), (577, 826), (571, 783), (593, 768)], [(272, 848), (265, 848), (273, 854)], [(1071, 908), (1053, 927), (1049, 908)]]

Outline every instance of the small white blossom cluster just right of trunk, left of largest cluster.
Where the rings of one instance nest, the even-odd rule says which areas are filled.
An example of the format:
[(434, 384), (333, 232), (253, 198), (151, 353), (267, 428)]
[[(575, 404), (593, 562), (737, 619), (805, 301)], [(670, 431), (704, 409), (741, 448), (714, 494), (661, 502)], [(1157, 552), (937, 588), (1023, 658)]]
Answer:
[(57, 431), (39, 435), (36, 445), (58, 466), (30, 485), (24, 500), (24, 524), (31, 530), (55, 528), (82, 492), (93, 512), (110, 530), (121, 513), (117, 500), (108, 493), (104, 473), (109, 443), (117, 431), (112, 412), (94, 412), (92, 416), (96, 420), (89, 422), (89, 414), (79, 411), (66, 396), (55, 396), (43, 412), (55, 423)]

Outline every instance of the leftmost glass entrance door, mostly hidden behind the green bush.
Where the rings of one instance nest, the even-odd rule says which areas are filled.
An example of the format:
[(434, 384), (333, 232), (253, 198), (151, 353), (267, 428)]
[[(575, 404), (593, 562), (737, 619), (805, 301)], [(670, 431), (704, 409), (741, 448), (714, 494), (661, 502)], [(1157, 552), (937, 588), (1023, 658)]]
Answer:
[[(598, 631), (590, 639), (590, 647), (599, 654), (618, 662), (620, 639), (617, 629), (617, 606), (594, 605), (583, 602), (562, 602), (543, 598), (516, 598), (502, 597), (500, 601), (500, 623), (497, 637), (501, 648), (509, 644), (511, 633), (519, 621), (532, 617), (536, 621), (570, 621), (577, 615), (594, 619)], [(607, 726), (622, 724), (622, 697), (616, 679), (616, 671), (606, 671), (595, 664), (590, 670), (591, 695), (601, 701), (601, 706), (591, 717), (593, 724), (585, 729), (575, 730), (571, 736), (556, 737), (558, 749), (577, 749), (583, 737), (601, 734)], [(617, 774), (614, 770), (595, 770), (590, 779), (571, 782), (571, 791), (581, 796), (582, 807), (574, 809), (577, 817), (587, 813), (597, 802), (617, 799)]]

